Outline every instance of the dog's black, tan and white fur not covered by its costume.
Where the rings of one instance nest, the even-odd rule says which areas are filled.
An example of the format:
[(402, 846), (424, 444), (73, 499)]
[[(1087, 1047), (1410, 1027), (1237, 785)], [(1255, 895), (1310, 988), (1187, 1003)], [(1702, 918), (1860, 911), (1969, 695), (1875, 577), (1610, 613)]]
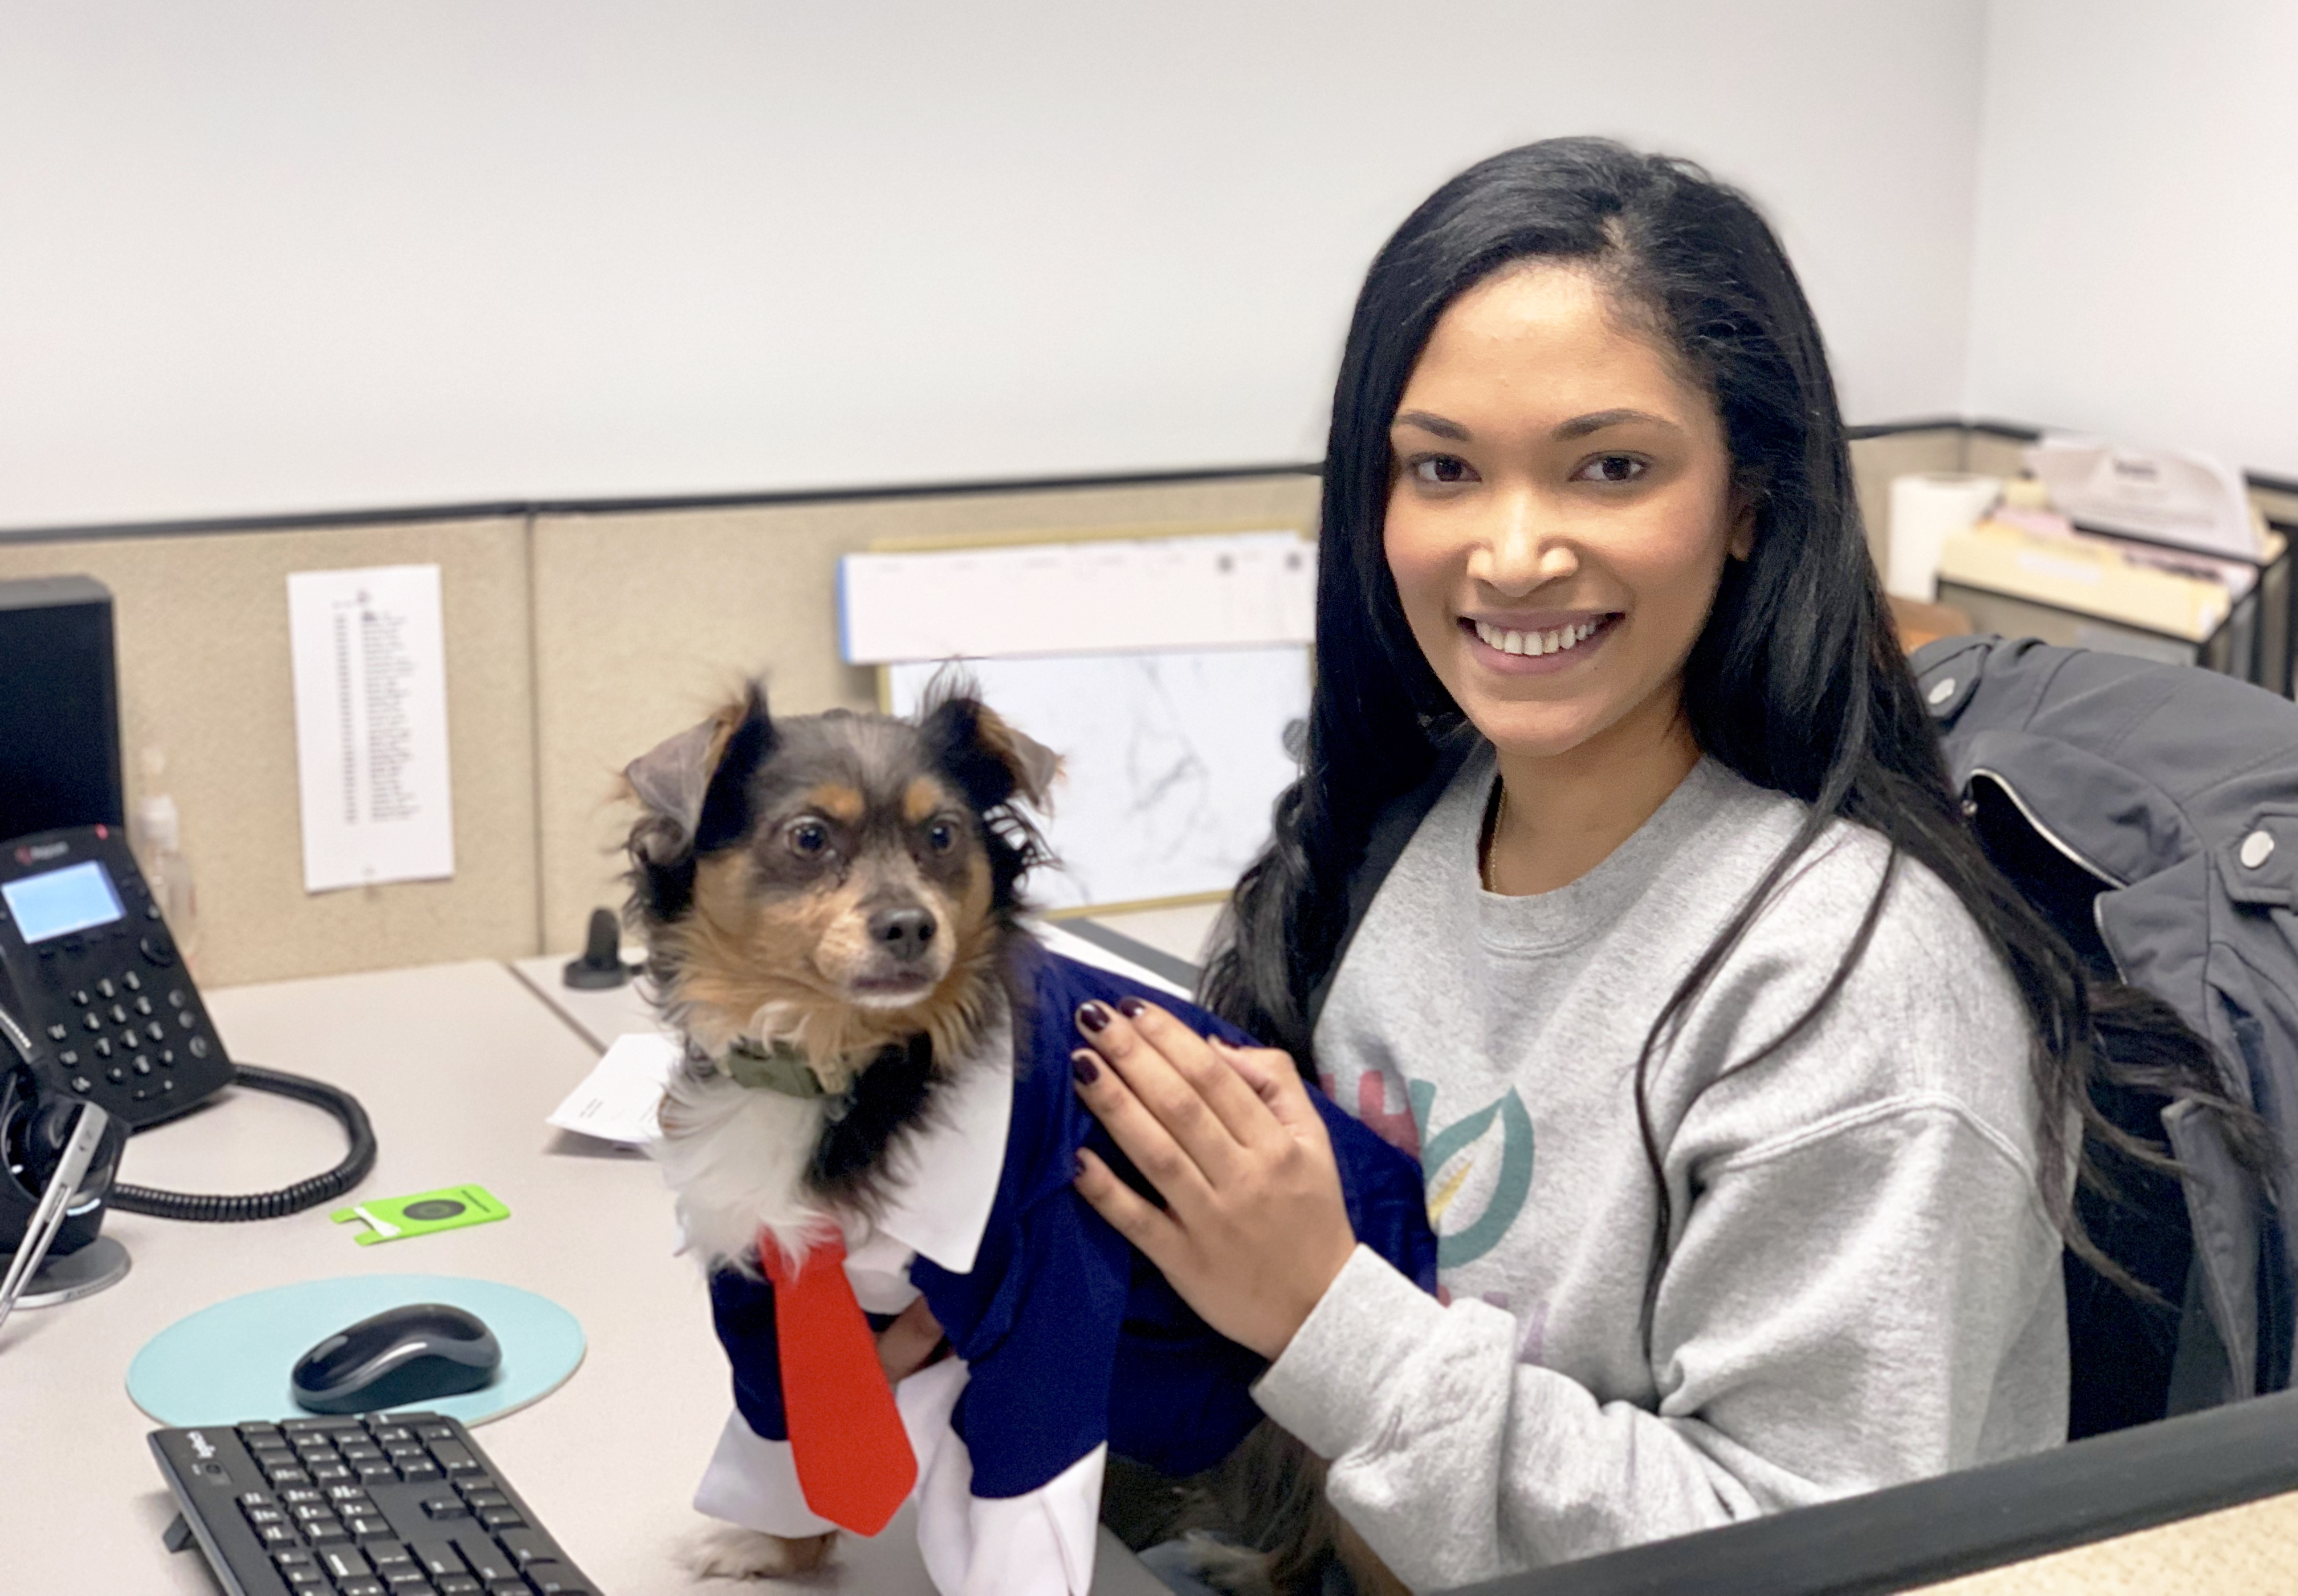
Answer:
[[(641, 816), (627, 918), (646, 938), (655, 1000), (687, 1042), (657, 1154), (705, 1267), (756, 1272), (761, 1226), (795, 1260), (841, 1212), (873, 1212), (887, 1150), (1002, 1039), (993, 1016), (1030, 1023), (1011, 957), (1027, 936), (1020, 878), (1043, 844), (1025, 805), (1046, 807), (1055, 770), (963, 683), (938, 683), (915, 722), (772, 720), (751, 685), (630, 768)], [(715, 1060), (740, 1039), (795, 1044), (825, 1095), (738, 1085)], [(1112, 1458), (1105, 1516), (1135, 1548), (1227, 1536), (1202, 1539), (1200, 1564), (1239, 1596), (1314, 1589), (1335, 1552), (1358, 1589), (1402, 1589), (1319, 1486), (1308, 1449), (1262, 1426), (1193, 1481)], [(717, 1525), (689, 1564), (804, 1573), (832, 1543)]]

